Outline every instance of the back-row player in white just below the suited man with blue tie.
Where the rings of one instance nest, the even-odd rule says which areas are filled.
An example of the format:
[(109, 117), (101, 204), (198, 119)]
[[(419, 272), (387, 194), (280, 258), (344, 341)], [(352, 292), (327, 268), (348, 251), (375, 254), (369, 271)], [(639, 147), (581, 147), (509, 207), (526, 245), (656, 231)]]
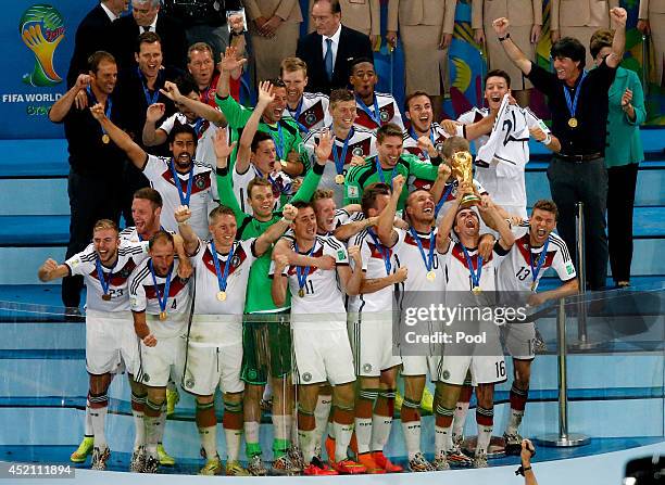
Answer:
[(381, 126), (393, 123), (403, 131), (402, 114), (393, 95), (374, 91), (378, 76), (372, 60), (355, 59), (349, 68), (351, 71), (349, 84), (353, 87), (353, 95), (357, 103), (355, 126), (376, 132)]

